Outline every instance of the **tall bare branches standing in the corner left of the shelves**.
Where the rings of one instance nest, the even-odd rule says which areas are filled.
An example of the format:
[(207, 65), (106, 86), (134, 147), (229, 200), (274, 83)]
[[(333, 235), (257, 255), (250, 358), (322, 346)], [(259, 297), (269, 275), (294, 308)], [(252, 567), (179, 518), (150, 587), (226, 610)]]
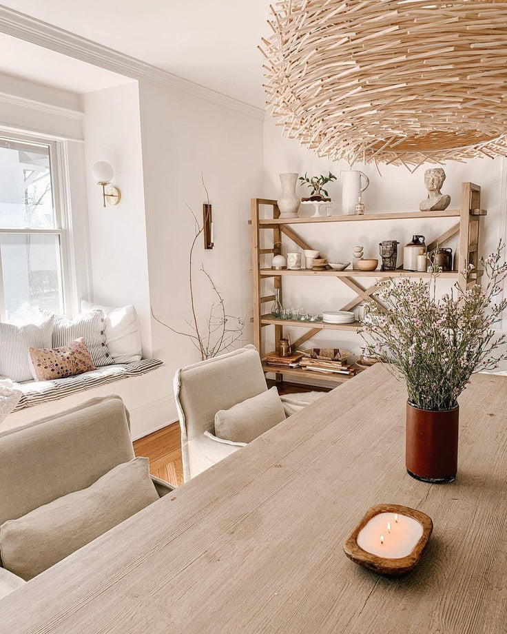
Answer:
[[(207, 204), (209, 205), (209, 194), (202, 176), (201, 180), (203, 181)], [(194, 249), (196, 247), (200, 234), (202, 234), (204, 231), (207, 216), (205, 216), (203, 224), (200, 225), (197, 220), (197, 216), (196, 214), (194, 214), (192, 208), (187, 205), (187, 209), (189, 209), (189, 212), (192, 214), (192, 216), (194, 216), (195, 222), (194, 238), (192, 240), (192, 244), (190, 245), (189, 252), (189, 291), (192, 318), (185, 319), (185, 323), (189, 327), (189, 331), (185, 332), (176, 330), (172, 326), (169, 326), (169, 324), (166, 324), (161, 319), (156, 317), (153, 311), (153, 307), (151, 311), (152, 317), (157, 323), (165, 326), (166, 328), (169, 328), (170, 331), (178, 335), (188, 337), (189, 340), (192, 341), (194, 347), (196, 347), (196, 349), (199, 351), (201, 360), (205, 360), (211, 359), (217, 354), (220, 354), (220, 352), (231, 349), (234, 343), (241, 339), (243, 329), (245, 328), (245, 319), (227, 314), (223, 295), (220, 293), (218, 287), (214, 283), (214, 280), (204, 268), (204, 265), (201, 264), (200, 272), (206, 276), (216, 299), (213, 303), (211, 303), (208, 316), (205, 319), (205, 327), (200, 327), (200, 320), (198, 319), (194, 294)], [(209, 212), (207, 213), (209, 214)]]

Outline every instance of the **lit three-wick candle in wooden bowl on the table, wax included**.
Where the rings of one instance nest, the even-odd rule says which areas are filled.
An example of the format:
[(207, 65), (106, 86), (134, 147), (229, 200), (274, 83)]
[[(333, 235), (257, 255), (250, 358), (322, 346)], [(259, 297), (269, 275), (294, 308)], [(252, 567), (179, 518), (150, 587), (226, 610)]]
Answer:
[(431, 531), (433, 522), (421, 511), (401, 504), (376, 504), (352, 531), (343, 550), (356, 564), (397, 577), (419, 562)]

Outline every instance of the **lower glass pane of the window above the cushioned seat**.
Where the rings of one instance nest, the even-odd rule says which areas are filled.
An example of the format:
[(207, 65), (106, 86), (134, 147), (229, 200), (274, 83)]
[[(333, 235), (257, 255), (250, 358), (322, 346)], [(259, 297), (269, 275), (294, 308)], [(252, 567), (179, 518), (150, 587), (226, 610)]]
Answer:
[(59, 236), (0, 234), (0, 262), (8, 320), (27, 305), (63, 313)]

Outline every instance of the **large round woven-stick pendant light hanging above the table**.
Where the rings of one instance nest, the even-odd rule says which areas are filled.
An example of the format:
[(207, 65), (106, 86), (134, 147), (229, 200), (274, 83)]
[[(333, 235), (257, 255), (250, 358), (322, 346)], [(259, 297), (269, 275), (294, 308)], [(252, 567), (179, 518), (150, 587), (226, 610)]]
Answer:
[(507, 155), (507, 2), (276, 7), (265, 89), (290, 138), (349, 163)]

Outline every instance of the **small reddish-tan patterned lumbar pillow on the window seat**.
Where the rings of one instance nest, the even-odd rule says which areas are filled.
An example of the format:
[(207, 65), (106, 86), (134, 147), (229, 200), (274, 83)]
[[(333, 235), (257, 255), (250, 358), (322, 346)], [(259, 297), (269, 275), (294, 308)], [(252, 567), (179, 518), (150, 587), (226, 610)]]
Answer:
[(50, 381), (96, 370), (83, 338), (61, 348), (30, 348), (29, 352), (36, 381)]

